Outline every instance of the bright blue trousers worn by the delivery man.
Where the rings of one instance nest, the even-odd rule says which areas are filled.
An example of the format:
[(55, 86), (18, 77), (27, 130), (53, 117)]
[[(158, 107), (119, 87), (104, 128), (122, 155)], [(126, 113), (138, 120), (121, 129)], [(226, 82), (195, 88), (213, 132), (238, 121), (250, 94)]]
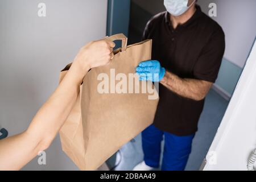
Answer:
[(144, 162), (147, 166), (158, 168), (160, 162), (161, 142), (164, 136), (163, 171), (183, 171), (191, 153), (191, 144), (195, 136), (179, 137), (163, 132), (154, 125), (142, 131), (142, 148)]

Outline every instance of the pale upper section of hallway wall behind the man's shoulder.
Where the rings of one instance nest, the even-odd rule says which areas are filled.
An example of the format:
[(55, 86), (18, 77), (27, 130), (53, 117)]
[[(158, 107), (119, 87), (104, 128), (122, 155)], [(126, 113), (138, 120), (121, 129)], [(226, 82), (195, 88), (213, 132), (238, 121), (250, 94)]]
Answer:
[(209, 3), (217, 5), (217, 17), (213, 17), (226, 35), (224, 57), (243, 68), (256, 36), (255, 0), (199, 0), (204, 13), (208, 14)]

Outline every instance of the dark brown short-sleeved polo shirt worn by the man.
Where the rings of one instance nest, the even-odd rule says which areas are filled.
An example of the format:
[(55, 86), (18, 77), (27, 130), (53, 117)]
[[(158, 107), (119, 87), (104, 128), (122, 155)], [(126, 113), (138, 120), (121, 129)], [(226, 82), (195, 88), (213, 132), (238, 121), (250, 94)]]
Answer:
[[(144, 30), (152, 39), (152, 60), (181, 78), (215, 82), (225, 50), (225, 35), (199, 6), (186, 23), (174, 30), (167, 11), (155, 15)], [(204, 100), (181, 97), (159, 84), (159, 104), (154, 125), (175, 135), (191, 135), (204, 107)]]

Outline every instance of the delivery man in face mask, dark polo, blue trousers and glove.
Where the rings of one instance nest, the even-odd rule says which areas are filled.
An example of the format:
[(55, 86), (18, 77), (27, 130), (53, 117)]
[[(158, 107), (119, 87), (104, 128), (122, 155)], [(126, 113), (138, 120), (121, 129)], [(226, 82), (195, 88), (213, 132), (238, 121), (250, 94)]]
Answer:
[(159, 167), (163, 136), (162, 170), (184, 170), (225, 50), (222, 28), (196, 0), (164, 0), (164, 6), (167, 11), (155, 15), (143, 34), (153, 40), (153, 60), (139, 64), (137, 73), (140, 80), (160, 82), (160, 100), (154, 124), (142, 132), (144, 161), (134, 170)]

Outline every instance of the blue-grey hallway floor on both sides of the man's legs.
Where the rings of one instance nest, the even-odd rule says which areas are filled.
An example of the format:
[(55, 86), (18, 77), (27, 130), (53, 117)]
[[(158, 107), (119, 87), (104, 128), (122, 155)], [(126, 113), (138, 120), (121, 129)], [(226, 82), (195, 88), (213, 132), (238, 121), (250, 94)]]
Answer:
[[(227, 106), (228, 101), (224, 100), (214, 90), (210, 90), (199, 121), (199, 130), (193, 140), (192, 152), (186, 170), (198, 170), (200, 168)], [(119, 150), (116, 159), (118, 166), (115, 170), (131, 170), (142, 160), (141, 134), (139, 134), (133, 141), (125, 144)]]

